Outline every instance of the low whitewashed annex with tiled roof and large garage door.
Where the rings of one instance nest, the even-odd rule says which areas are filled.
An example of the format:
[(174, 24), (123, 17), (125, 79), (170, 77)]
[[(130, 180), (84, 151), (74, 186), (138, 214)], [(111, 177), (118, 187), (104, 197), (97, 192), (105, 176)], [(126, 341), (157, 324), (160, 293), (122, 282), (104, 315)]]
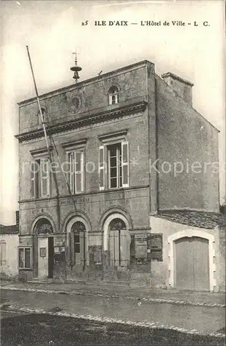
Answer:
[(162, 230), (162, 262), (152, 262), (152, 285), (191, 291), (225, 291), (226, 215), (162, 211), (151, 230)]

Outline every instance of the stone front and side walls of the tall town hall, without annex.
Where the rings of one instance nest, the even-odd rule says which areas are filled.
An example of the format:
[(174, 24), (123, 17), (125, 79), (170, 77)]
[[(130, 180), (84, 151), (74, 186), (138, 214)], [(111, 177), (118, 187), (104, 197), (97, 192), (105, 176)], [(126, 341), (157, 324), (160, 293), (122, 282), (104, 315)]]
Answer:
[[(111, 88), (117, 88), (114, 104), (109, 102)], [(75, 99), (77, 108), (72, 110)], [(31, 251), (30, 267), (19, 268), (19, 275), (156, 286), (151, 284), (156, 263), (151, 253), (150, 215), (175, 207), (218, 212), (218, 175), (208, 171), (194, 178), (181, 172), (175, 179), (171, 173), (158, 174), (150, 164), (158, 158), (170, 163), (182, 157), (204, 161), (205, 149), (208, 158), (217, 161), (218, 131), (147, 61), (46, 93), (40, 100), (50, 136), (50, 163), (59, 165), (58, 153), (61, 164), (68, 164), (71, 152), (82, 151), (84, 187), (70, 196), (57, 166), (48, 176), (48, 196), (33, 195), (35, 178), (32, 174), (31, 179), (30, 167), (35, 160), (40, 164), (48, 152), (37, 100), (19, 102), (19, 246)], [(189, 140), (189, 134), (194, 138)], [(113, 147), (121, 160), (117, 180), (122, 181), (117, 188), (109, 185), (113, 167), (109, 148)], [(104, 186), (100, 172), (104, 172)], [(70, 172), (66, 177), (70, 183)], [(75, 224), (80, 228), (74, 232)], [(164, 242), (160, 232), (154, 233), (161, 262)]]

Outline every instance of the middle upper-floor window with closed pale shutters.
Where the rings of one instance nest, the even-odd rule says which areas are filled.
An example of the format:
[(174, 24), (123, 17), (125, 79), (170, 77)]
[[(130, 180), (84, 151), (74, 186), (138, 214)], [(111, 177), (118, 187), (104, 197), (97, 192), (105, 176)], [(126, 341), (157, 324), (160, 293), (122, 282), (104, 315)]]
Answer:
[(70, 152), (70, 191), (73, 194), (84, 192), (84, 152)]

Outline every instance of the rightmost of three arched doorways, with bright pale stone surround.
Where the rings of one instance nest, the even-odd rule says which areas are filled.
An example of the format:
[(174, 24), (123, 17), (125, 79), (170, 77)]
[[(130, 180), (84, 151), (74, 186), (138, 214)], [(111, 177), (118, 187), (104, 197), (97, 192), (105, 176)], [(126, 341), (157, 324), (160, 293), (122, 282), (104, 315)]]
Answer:
[(129, 224), (120, 214), (110, 215), (104, 223), (105, 264), (113, 268), (126, 268), (130, 261)]

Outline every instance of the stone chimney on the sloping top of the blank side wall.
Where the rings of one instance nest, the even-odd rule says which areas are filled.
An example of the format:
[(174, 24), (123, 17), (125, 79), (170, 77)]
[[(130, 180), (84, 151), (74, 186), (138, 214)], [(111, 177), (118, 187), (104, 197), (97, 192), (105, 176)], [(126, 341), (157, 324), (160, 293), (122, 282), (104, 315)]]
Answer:
[(188, 80), (184, 80), (178, 75), (174, 75), (171, 72), (164, 73), (162, 79), (169, 85), (171, 88), (178, 93), (178, 95), (185, 100), (188, 104), (192, 106), (192, 84)]

